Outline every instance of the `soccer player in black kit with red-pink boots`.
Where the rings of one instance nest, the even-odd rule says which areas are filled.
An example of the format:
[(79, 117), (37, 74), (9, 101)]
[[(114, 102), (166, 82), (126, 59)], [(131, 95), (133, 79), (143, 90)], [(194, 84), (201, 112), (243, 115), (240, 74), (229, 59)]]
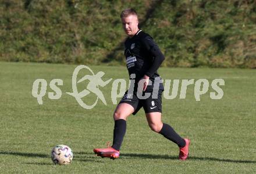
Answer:
[[(186, 160), (190, 140), (183, 139), (170, 125), (161, 121), (163, 84), (157, 70), (165, 57), (152, 37), (138, 28), (138, 16), (134, 9), (123, 10), (120, 17), (123, 30), (128, 35), (125, 56), (130, 81), (134, 85), (130, 85), (113, 114), (115, 127), (112, 146), (94, 148), (93, 151), (101, 157), (118, 158), (126, 133), (126, 118), (131, 114), (135, 115), (143, 107), (152, 131), (176, 143), (180, 150), (179, 159)], [(145, 97), (146, 94), (150, 96)]]

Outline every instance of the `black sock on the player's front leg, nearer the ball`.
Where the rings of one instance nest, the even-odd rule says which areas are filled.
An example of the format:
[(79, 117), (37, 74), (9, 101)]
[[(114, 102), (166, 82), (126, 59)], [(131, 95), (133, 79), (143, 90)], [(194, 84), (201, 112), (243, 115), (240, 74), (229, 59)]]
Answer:
[(120, 147), (123, 142), (123, 137), (126, 132), (126, 121), (125, 119), (117, 119), (115, 121), (115, 128), (113, 131), (113, 145), (112, 148), (115, 150), (120, 150)]

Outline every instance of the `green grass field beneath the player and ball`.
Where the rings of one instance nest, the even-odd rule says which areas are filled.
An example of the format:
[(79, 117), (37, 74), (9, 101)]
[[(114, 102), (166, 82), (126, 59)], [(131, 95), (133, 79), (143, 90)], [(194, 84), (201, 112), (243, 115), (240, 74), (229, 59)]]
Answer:
[[(223, 78), (224, 96), (209, 91), (195, 102), (194, 85), (186, 99), (163, 99), (163, 121), (191, 139), (190, 158), (177, 160), (178, 148), (147, 125), (144, 112), (130, 116), (120, 158), (95, 156), (93, 148), (112, 141), (115, 105), (112, 82), (102, 89), (107, 106), (85, 110), (72, 92), (75, 65), (0, 62), (0, 173), (254, 173), (256, 169), (256, 72), (243, 69), (161, 68), (163, 79)], [(104, 79), (128, 78), (126, 67), (90, 66)], [(59, 100), (31, 95), (35, 79), (63, 79)], [(80, 88), (82, 88), (80, 86)], [(179, 90), (180, 92), (180, 90)], [(178, 93), (179, 94), (179, 93)], [(86, 102), (94, 101), (94, 96)], [(72, 165), (52, 164), (56, 144), (70, 146)]]

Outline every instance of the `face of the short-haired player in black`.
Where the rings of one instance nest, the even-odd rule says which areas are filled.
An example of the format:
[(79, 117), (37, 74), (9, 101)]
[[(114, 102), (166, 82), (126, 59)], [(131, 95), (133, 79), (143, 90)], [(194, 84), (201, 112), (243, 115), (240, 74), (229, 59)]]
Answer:
[(122, 18), (123, 30), (125, 33), (129, 35), (129, 37), (133, 37), (138, 31), (138, 18), (136, 15), (129, 15), (127, 17)]

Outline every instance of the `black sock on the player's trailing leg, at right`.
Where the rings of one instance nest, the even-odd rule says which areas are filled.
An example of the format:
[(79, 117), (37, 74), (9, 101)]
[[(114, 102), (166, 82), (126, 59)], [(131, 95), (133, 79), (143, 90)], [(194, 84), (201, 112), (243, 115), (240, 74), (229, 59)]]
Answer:
[(185, 140), (180, 137), (168, 124), (163, 124), (163, 127), (159, 133), (166, 137), (166, 139), (176, 143), (179, 147), (184, 147), (186, 145)]

